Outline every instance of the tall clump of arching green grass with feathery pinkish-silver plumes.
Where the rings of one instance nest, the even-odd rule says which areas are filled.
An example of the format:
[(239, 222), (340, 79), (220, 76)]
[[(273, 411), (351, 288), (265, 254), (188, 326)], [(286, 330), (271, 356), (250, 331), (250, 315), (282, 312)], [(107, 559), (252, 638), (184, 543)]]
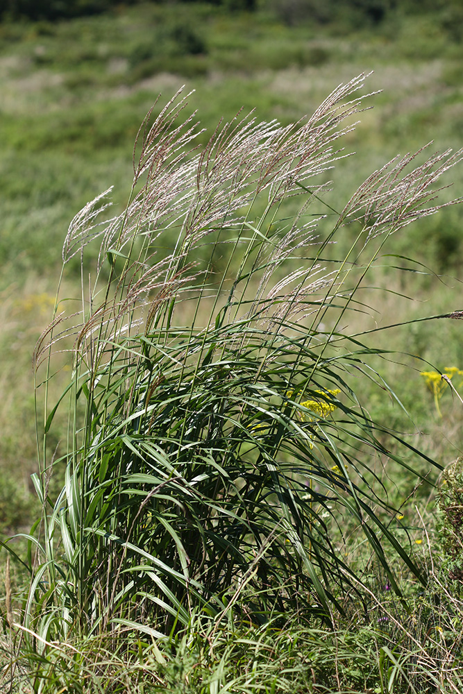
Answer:
[[(106, 191), (71, 222), (62, 277), (78, 255), (80, 305), (61, 312), (58, 290), (35, 352), (46, 405), (31, 649), (160, 638), (194, 613), (329, 624), (346, 591), (362, 592), (344, 551), (355, 543), (399, 596), (398, 561), (424, 580), (390, 529), (379, 468), (405, 465), (410, 443), (371, 421), (351, 374), (396, 396), (339, 326), (388, 237), (439, 209), (435, 183), (462, 152), (396, 158), (335, 212), (323, 181), (363, 87), (340, 85), (290, 126), (239, 114), (201, 146), (178, 92), (140, 129), (124, 212), (108, 220)], [(338, 235), (351, 250), (324, 260)], [(48, 403), (62, 350), (69, 385)], [(67, 441), (49, 459), (60, 407)], [(65, 471), (56, 498), (53, 469)]]

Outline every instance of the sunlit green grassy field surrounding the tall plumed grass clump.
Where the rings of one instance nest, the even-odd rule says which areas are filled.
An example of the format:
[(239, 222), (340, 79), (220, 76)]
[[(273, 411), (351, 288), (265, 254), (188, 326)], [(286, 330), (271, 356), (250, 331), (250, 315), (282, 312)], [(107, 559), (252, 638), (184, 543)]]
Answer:
[[(258, 121), (277, 119), (286, 126), (311, 115), (340, 83), (372, 71), (360, 93), (363, 96), (380, 90), (364, 100), (365, 107), (374, 108), (355, 116), (360, 122), (342, 142), (344, 150), (340, 154), (352, 156), (339, 160), (335, 169), (318, 179), (318, 183), (332, 182), (331, 191), (312, 203), (313, 214), (328, 212), (319, 224), (322, 239), (332, 225), (333, 215), (342, 211), (357, 186), (395, 155), (413, 153), (432, 141), (413, 160), (412, 165), (418, 166), (433, 152), (458, 149), (462, 142), (463, 47), (441, 11), (419, 16), (390, 15), (378, 27), (354, 31), (342, 24), (321, 26), (306, 22), (285, 26), (270, 10), (246, 15), (230, 14), (206, 4), (181, 4), (181, 12), (179, 8), (178, 3), (146, 4), (71, 22), (0, 25), (3, 539), (17, 530), (28, 532), (41, 514), (31, 482), (31, 473), (37, 471), (37, 458), (42, 462), (43, 456), (59, 460), (69, 446), (66, 409), (58, 410), (44, 442), (39, 421), (37, 441), (36, 416), (43, 406), (44, 387), (35, 395), (31, 369), (35, 343), (56, 307), (61, 249), (69, 222), (87, 201), (110, 186), (114, 186), (110, 214), (124, 212), (133, 178), (133, 143), (158, 94), (154, 117), (182, 85), (184, 93), (194, 90), (183, 114), (197, 110), (201, 127), (205, 128), (198, 142), (204, 145), (217, 123), (221, 119), (230, 121), (241, 108), (244, 115), (255, 108)], [(461, 194), (461, 165), (442, 179), (443, 185), (452, 182), (453, 187), (441, 192), (441, 202)], [(263, 219), (264, 206), (259, 207), (260, 204), (252, 208), (250, 219), (254, 224)], [(296, 202), (289, 197), (278, 210), (278, 224), (285, 228), (285, 219), (294, 218), (296, 210)], [(428, 588), (423, 589), (410, 567), (392, 552), (390, 561), (402, 581), (402, 597), (397, 597), (381, 563), (380, 551), (373, 551), (373, 545), (365, 548), (357, 525), (346, 511), (347, 504), (337, 519), (330, 521), (329, 532), (335, 545), (333, 552), (337, 552), (336, 556), (344, 552), (342, 556), (353, 567), (359, 584), (351, 584), (350, 589), (343, 588), (335, 596), (335, 602), (330, 604), (334, 612), (329, 628), (317, 610), (304, 623), (301, 614), (309, 598), (306, 594), (302, 597), (302, 588), (299, 606), (288, 601), (291, 607), (287, 623), (282, 621), (281, 609), (275, 609), (273, 614), (268, 605), (267, 618), (260, 621), (256, 615), (262, 606), (252, 607), (253, 600), (260, 600), (255, 597), (258, 593), (253, 597), (253, 560), (249, 573), (244, 574), (244, 587), (237, 591), (242, 601), (237, 620), (226, 602), (230, 600), (233, 607), (235, 598), (226, 592), (221, 594), (224, 613), (216, 612), (215, 622), (211, 623), (201, 610), (192, 610), (187, 618), (185, 605), (172, 587), (174, 578), (170, 577), (173, 583), (167, 581), (169, 595), (176, 595), (171, 600), (176, 605), (176, 620), (180, 619), (181, 629), (175, 628), (176, 620), (172, 625), (168, 619), (165, 627), (170, 636), (158, 645), (151, 640), (153, 633), (149, 629), (137, 633), (127, 621), (120, 641), (124, 642), (124, 650), (122, 645), (119, 648), (114, 631), (103, 633), (104, 630), (98, 632), (92, 627), (85, 632), (80, 616), (80, 631), (77, 629), (77, 636), (73, 632), (69, 641), (52, 618), (47, 626), (43, 626), (42, 620), (47, 650), (37, 647), (33, 639), (28, 641), (26, 632), (19, 636), (19, 632), (15, 634), (7, 626), (8, 591), (13, 595), (12, 609), (19, 611), (19, 606), (24, 605), (21, 595), (26, 574), (18, 561), (12, 560), (7, 570), (6, 552), (2, 551), (0, 565), (5, 580), (0, 587), (0, 610), (6, 619), (1, 645), (6, 653), (12, 649), (23, 654), (15, 665), (10, 691), (460, 691), (461, 538), (455, 534), (460, 532), (460, 520), (452, 515), (452, 509), (462, 505), (460, 468), (451, 468), (443, 478), (447, 496), (445, 490), (438, 493), (435, 484), (441, 469), (455, 461), (463, 447), (463, 405), (457, 395), (463, 395), (459, 373), (463, 371), (463, 324), (458, 320), (423, 319), (463, 309), (461, 219), (461, 208), (451, 206), (389, 235), (371, 267), (365, 269), (351, 306), (354, 310), (344, 312), (330, 306), (337, 317), (328, 314), (330, 317), (323, 318), (323, 323), (326, 320), (328, 324), (320, 328), (326, 335), (335, 331), (343, 354), (348, 351), (344, 336), (356, 335), (366, 346), (364, 362), (356, 357), (360, 359), (359, 369), (353, 367), (346, 382), (362, 403), (362, 412), (367, 412), (373, 423), (379, 423), (375, 434), (379, 448), (371, 452), (367, 439), (361, 438), (356, 448), (351, 430), (344, 443), (356, 450), (355, 455), (365, 465), (364, 473), (357, 470), (355, 484), (361, 493), (373, 495), (372, 512), (378, 522), (394, 529), (398, 546), (407, 548), (412, 561), (428, 575)], [(339, 259), (348, 256), (356, 234), (355, 224), (341, 228), (335, 244), (323, 246), (319, 255), (323, 266), (336, 267)], [(167, 232), (162, 237), (162, 251), (158, 251), (167, 255), (175, 242), (174, 232)], [(207, 263), (209, 247), (201, 246), (194, 256), (200, 267)], [(281, 269), (279, 279), (300, 267), (307, 260), (306, 253), (297, 251), (292, 263)], [(93, 278), (97, 254), (98, 248), (88, 247), (88, 267)], [(226, 253), (214, 257), (217, 276), (227, 269), (226, 262)], [(237, 254), (230, 272), (239, 272), (239, 262)], [(360, 274), (363, 262), (359, 255), (354, 263)], [(101, 272), (101, 287), (111, 277), (112, 269), (106, 264)], [(251, 289), (257, 291), (258, 278), (253, 282)], [(88, 276), (81, 277), (81, 258), (77, 254), (66, 266), (60, 310), (64, 307), (72, 311), (69, 307), (74, 303), (65, 300), (86, 291), (81, 289), (81, 283), (83, 287), (91, 284)], [(179, 306), (178, 325), (189, 324), (189, 306)], [(210, 310), (210, 302), (201, 305), (198, 320), (207, 322)], [(383, 330), (397, 323), (403, 325)], [(336, 350), (337, 346), (328, 345), (331, 348)], [(380, 354), (380, 350), (387, 350), (387, 354)], [(185, 369), (188, 368), (190, 362), (185, 361)], [(58, 369), (58, 373), (49, 384), (47, 414), (71, 378), (71, 356), (58, 355), (53, 369)], [(362, 371), (371, 378), (362, 375)], [(421, 372), (452, 375), (456, 392)], [(388, 388), (383, 387), (382, 379), (387, 381)], [(175, 400), (174, 396), (168, 397)], [(296, 403), (296, 409), (300, 405), (301, 401)], [(344, 403), (343, 407), (347, 408), (344, 414), (351, 412), (350, 407), (352, 412), (355, 410), (355, 405)], [(256, 426), (243, 421), (244, 428)], [(298, 421), (305, 421), (303, 414), (299, 413)], [(341, 432), (339, 429), (336, 437), (342, 443)], [(74, 432), (76, 440), (80, 435)], [(334, 455), (334, 444), (330, 450), (330, 455)], [(423, 455), (417, 455), (416, 450)], [(104, 474), (100, 471), (101, 484)], [(339, 468), (334, 475), (338, 474)], [(64, 471), (57, 466), (51, 480), (47, 478), (47, 493), (53, 503), (62, 484)], [(66, 484), (69, 486), (69, 480)], [(239, 482), (238, 489), (240, 484), (244, 483)], [(382, 507), (384, 495), (387, 503)], [(174, 511), (170, 509), (169, 514)], [(166, 516), (165, 523), (168, 525), (173, 517)], [(146, 531), (147, 523), (142, 530)], [(343, 523), (345, 535), (339, 532)], [(176, 531), (169, 532), (167, 537), (177, 543)], [(347, 541), (346, 536), (350, 537)], [(142, 535), (139, 541), (143, 546), (146, 537)], [(31, 559), (31, 547), (27, 550), (25, 545), (24, 539), (12, 543), (25, 555), (29, 551)], [(50, 548), (52, 545), (50, 539)], [(180, 540), (177, 546), (181, 546)], [(288, 566), (298, 566), (294, 552), (285, 547), (283, 550), (287, 552)], [(103, 564), (103, 545), (98, 552), (97, 559), (92, 561)], [(168, 559), (169, 552), (165, 552)], [(329, 553), (327, 561), (332, 561)], [(4, 591), (7, 575), (12, 589)], [(289, 581), (288, 575), (285, 581)], [(143, 584), (142, 590), (149, 589)], [(159, 602), (160, 598), (156, 599)], [(315, 590), (313, 600), (320, 606), (323, 599), (323, 591)], [(339, 601), (342, 611), (333, 607)], [(40, 604), (45, 605), (46, 601)], [(38, 612), (40, 609), (39, 606)], [(65, 609), (71, 609), (69, 604)], [(369, 618), (365, 618), (366, 614)], [(31, 625), (38, 631), (40, 617), (36, 615), (36, 619)], [(297, 624), (299, 619), (301, 625)], [(6, 686), (10, 686), (8, 672), (12, 670), (3, 671)], [(27, 677), (28, 672), (35, 672), (35, 677)], [(106, 682), (108, 672), (111, 684)], [(28, 684), (18, 684), (22, 675)], [(50, 688), (44, 688), (45, 682)], [(19, 686), (26, 688), (17, 689)]]

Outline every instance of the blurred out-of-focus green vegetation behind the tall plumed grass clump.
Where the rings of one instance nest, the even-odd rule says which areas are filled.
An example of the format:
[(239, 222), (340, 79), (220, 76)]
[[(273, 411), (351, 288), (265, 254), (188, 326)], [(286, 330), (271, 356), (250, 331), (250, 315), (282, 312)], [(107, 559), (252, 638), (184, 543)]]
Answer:
[[(158, 94), (155, 112), (181, 85), (196, 90), (188, 108), (210, 133), (242, 107), (258, 119), (297, 120), (340, 82), (374, 71), (369, 89), (382, 92), (346, 138), (356, 154), (327, 175), (335, 196), (326, 201), (340, 210), (397, 153), (430, 140), (439, 151), (461, 145), (463, 10), (457, 0), (1, 0), (0, 17), (0, 531), (10, 534), (36, 513), (31, 354), (51, 316), (62, 239), (110, 185), (115, 212), (124, 208), (133, 142)], [(444, 199), (462, 191), (455, 175)], [(449, 208), (393, 239), (369, 282), (376, 291), (362, 290), (371, 310), (360, 307), (359, 332), (462, 308), (461, 219)], [(77, 282), (78, 258), (74, 271)], [(458, 405), (448, 389), (439, 416), (419, 372), (463, 368), (461, 324), (407, 325), (386, 347), (407, 353), (403, 371), (385, 369), (414, 424), (377, 392), (366, 393), (372, 415), (450, 462), (462, 446)], [(63, 357), (64, 375), (69, 368)], [(53, 388), (58, 395), (59, 378)], [(393, 480), (396, 505), (428, 499), (430, 487), (414, 484)]]

